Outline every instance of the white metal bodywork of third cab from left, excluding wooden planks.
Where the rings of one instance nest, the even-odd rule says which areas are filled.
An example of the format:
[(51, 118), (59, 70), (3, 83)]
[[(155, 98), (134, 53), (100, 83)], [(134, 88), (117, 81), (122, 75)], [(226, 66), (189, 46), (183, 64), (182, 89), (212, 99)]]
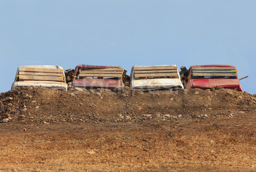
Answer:
[(183, 84), (180, 79), (180, 73), (177, 68), (177, 78), (151, 78), (151, 79), (135, 79), (134, 68), (135, 67), (163, 67), (173, 66), (177, 68), (177, 65), (157, 65), (157, 66), (133, 66), (131, 69), (131, 81), (130, 89), (141, 89), (143, 91), (159, 90), (159, 89), (178, 89), (183, 88)]

